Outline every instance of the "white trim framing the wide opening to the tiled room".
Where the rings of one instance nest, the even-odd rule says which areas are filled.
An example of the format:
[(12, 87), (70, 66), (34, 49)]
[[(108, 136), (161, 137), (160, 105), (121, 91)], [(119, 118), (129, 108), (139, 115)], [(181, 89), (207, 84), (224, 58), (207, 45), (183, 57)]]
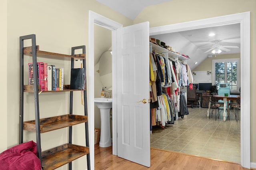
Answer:
[(237, 23), (240, 23), (241, 35), (241, 165), (250, 168), (250, 12), (154, 27), (149, 29), (149, 34), (152, 36)]

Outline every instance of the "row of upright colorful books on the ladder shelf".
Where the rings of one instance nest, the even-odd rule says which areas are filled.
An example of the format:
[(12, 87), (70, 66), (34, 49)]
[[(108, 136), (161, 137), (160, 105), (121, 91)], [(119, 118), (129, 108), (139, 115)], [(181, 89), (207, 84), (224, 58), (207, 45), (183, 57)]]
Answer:
[[(38, 62), (38, 85), (41, 91), (63, 90), (64, 68), (56, 68), (55, 65)], [(33, 63), (28, 63), (28, 84), (34, 85)]]

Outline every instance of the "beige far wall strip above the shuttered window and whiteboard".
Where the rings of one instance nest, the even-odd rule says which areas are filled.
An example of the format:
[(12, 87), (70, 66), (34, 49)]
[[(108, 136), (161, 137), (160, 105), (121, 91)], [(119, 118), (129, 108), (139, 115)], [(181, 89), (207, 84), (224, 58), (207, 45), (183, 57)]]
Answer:
[(240, 58), (240, 53), (238, 54), (221, 54), (221, 55), (212, 55), (212, 58), (206, 58), (202, 63), (200, 63), (192, 71), (212, 71), (212, 60), (214, 59), (229, 59), (229, 58)]

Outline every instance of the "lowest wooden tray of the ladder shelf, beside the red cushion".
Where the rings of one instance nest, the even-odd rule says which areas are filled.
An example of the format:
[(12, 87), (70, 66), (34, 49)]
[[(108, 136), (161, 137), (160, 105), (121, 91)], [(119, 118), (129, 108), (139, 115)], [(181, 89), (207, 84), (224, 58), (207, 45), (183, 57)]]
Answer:
[(54, 170), (89, 153), (89, 147), (63, 144), (42, 152), (43, 170)]

